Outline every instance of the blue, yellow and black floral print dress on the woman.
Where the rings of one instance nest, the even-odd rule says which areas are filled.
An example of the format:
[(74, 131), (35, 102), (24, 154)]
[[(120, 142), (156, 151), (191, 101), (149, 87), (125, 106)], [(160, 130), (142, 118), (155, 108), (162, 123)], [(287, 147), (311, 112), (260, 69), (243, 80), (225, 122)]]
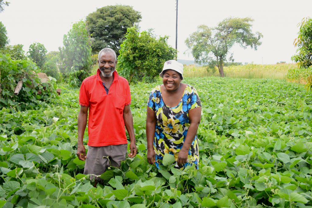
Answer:
[(198, 168), (198, 141), (195, 136), (192, 145), (188, 151), (188, 161), (182, 166), (178, 166), (178, 153), (181, 150), (190, 122), (188, 111), (200, 107), (200, 100), (195, 88), (187, 85), (183, 97), (176, 107), (169, 107), (163, 102), (160, 85), (156, 86), (149, 95), (148, 107), (155, 112), (157, 119), (154, 150), (156, 167), (162, 165), (161, 161), (165, 153), (174, 155), (174, 167), (182, 168), (195, 164)]

